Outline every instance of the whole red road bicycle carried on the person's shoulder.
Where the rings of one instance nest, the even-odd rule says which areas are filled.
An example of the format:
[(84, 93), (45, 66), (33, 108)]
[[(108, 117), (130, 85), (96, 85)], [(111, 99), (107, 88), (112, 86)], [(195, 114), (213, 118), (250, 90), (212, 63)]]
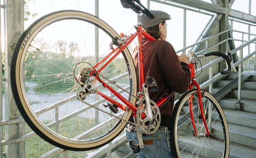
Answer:
[[(91, 150), (116, 138), (127, 123), (141, 132), (154, 134), (160, 126), (159, 107), (174, 96), (154, 102), (149, 91), (157, 90), (153, 78), (144, 81), (141, 13), (153, 18), (139, 0), (125, 8), (137, 13), (135, 33), (120, 36), (101, 19), (81, 11), (57, 11), (35, 21), (22, 34), (13, 53), (11, 83), (14, 98), (27, 124), (43, 139), (68, 150)], [(138, 38), (140, 64), (137, 94), (136, 71), (129, 50)], [(110, 44), (108, 44), (110, 42)], [(197, 55), (189, 51), (191, 84), (175, 106), (171, 127), (172, 150), (203, 157), (228, 157), (227, 122), (219, 103), (201, 90), (195, 69), (199, 58), (224, 53)], [(196, 89), (192, 89), (193, 86)], [(130, 122), (134, 116), (135, 123)]]

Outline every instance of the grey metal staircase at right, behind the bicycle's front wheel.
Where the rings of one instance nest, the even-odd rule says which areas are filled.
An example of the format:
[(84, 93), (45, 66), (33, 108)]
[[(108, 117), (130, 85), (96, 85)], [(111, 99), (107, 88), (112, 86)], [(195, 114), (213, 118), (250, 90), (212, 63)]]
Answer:
[[(225, 113), (230, 137), (230, 157), (254, 158), (256, 156), (256, 71), (242, 82), (241, 101), (238, 103), (237, 84), (225, 97), (219, 100)], [(232, 73), (214, 84), (213, 92), (225, 87), (238, 77)]]

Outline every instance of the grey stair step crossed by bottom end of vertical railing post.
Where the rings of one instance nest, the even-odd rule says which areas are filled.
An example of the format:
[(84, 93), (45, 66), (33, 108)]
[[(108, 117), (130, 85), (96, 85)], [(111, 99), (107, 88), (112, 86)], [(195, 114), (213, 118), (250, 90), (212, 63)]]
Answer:
[[(237, 98), (222, 98), (219, 101), (222, 108), (237, 109)], [(240, 109), (243, 111), (256, 112), (256, 100), (252, 99), (241, 99)]]

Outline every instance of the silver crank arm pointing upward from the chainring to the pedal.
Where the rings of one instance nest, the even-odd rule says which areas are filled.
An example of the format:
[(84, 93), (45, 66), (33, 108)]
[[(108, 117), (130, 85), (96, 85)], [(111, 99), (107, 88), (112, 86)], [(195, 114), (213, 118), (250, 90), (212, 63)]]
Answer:
[(147, 119), (147, 121), (149, 121), (149, 124), (151, 125), (153, 120), (154, 120), (154, 117), (153, 117), (153, 113), (151, 111), (151, 104), (150, 104), (150, 99), (149, 99), (148, 88), (147, 88), (147, 85), (145, 83), (142, 85), (142, 90), (144, 92), (145, 106), (146, 106), (146, 109), (147, 109), (146, 119)]

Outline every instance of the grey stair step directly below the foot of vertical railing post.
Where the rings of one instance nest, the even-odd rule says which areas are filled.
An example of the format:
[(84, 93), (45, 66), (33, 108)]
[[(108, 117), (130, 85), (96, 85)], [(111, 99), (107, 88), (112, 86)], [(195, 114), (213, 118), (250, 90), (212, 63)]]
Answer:
[[(256, 128), (256, 113), (223, 108), (228, 123)], [(256, 131), (255, 131), (256, 132)]]

